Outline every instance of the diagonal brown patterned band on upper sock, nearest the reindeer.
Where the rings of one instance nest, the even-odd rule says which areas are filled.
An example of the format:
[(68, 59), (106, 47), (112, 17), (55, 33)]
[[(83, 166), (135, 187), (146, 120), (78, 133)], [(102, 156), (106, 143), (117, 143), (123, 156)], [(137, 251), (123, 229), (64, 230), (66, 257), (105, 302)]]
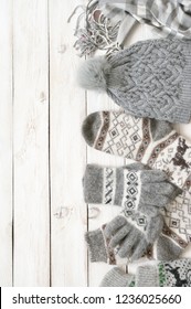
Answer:
[(160, 142), (159, 145), (157, 145), (151, 154), (150, 154), (150, 158), (148, 159), (148, 166), (149, 167), (152, 167), (153, 163), (156, 162), (158, 156), (160, 154), (160, 152), (166, 149), (169, 145), (171, 145), (177, 138), (179, 137), (179, 134), (176, 132), (176, 134), (172, 134), (167, 140)]

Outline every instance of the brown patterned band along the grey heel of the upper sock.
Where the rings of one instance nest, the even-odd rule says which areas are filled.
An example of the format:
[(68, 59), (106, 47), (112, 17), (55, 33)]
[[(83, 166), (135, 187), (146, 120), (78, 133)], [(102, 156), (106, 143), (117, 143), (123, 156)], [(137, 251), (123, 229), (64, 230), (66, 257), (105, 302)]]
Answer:
[(136, 161), (141, 161), (149, 143), (151, 140), (150, 136), (150, 126), (149, 126), (149, 119), (148, 118), (142, 118), (142, 142), (139, 146), (137, 156), (136, 156)]

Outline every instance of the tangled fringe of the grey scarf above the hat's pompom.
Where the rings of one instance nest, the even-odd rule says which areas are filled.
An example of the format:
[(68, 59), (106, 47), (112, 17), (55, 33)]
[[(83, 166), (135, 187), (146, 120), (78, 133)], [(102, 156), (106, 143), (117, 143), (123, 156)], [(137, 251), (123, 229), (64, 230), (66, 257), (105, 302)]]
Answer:
[(67, 20), (70, 22), (79, 8), (83, 10), (77, 18), (74, 32), (77, 36), (74, 47), (79, 51), (79, 56), (93, 55), (96, 50), (105, 50), (110, 54), (120, 49), (115, 41), (121, 21), (112, 25), (110, 20), (98, 8), (98, 2), (91, 0), (87, 7), (77, 6)]

